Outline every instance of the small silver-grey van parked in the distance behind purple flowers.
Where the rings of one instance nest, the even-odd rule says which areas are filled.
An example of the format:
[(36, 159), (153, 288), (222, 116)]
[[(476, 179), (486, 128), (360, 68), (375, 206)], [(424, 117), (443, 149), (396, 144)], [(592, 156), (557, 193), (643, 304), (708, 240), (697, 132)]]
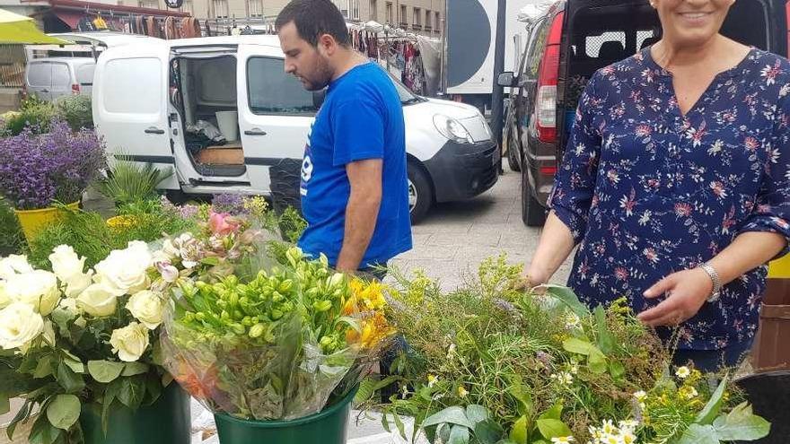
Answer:
[(31, 60), (25, 67), (25, 91), (48, 101), (71, 95), (91, 95), (95, 67), (96, 61), (90, 57)]

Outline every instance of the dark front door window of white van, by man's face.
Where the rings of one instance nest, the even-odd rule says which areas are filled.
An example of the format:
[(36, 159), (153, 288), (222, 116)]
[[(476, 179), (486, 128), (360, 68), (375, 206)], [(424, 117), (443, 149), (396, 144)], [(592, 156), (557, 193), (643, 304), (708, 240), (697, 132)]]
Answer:
[(247, 87), (253, 114), (315, 114), (312, 92), (291, 74), (285, 74), (283, 59), (251, 57), (247, 62)]

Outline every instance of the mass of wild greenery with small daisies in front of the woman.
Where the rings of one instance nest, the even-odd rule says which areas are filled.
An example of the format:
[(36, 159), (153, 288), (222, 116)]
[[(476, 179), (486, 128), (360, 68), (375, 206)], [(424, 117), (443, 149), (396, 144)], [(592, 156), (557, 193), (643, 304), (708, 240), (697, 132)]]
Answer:
[[(408, 414), (432, 442), (664, 443), (758, 440), (770, 424), (726, 375), (671, 366), (625, 300), (589, 310), (569, 289), (513, 290), (505, 257), (454, 292), (417, 274), (391, 291), (408, 347), (387, 417)], [(416, 429), (417, 430), (417, 429)]]

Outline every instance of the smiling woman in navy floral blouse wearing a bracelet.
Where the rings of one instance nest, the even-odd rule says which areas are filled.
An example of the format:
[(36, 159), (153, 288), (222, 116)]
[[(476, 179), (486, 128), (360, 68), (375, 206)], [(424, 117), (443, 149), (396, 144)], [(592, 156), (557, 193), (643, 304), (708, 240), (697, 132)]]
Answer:
[(734, 1), (653, 0), (663, 39), (592, 76), (527, 276), (578, 244), (575, 292), (680, 326), (703, 370), (750, 348), (790, 237), (790, 62), (719, 33)]

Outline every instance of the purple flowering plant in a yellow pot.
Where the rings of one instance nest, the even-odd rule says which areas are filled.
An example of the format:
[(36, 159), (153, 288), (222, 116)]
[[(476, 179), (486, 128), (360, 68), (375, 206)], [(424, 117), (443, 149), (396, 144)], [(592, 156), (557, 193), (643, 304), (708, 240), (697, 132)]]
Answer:
[(76, 208), (104, 167), (101, 140), (65, 122), (53, 120), (47, 134), (26, 129), (0, 139), (0, 195), (13, 205), (28, 241), (57, 218), (56, 203)]

